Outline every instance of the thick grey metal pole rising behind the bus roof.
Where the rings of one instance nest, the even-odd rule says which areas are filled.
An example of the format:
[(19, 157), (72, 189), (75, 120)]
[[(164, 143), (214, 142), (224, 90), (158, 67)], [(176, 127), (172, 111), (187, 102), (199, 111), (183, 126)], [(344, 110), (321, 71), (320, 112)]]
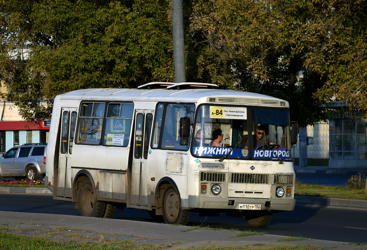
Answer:
[(172, 0), (172, 27), (173, 53), (175, 59), (175, 82), (186, 82), (182, 0)]

